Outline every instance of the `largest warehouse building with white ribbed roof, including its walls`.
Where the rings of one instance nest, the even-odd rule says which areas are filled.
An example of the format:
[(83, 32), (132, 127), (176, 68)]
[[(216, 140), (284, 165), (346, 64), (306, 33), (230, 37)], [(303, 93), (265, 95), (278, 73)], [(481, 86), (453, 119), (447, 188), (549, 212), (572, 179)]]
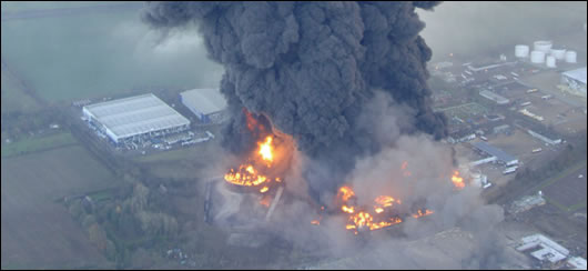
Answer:
[(116, 144), (190, 128), (190, 120), (152, 93), (85, 106), (82, 112)]

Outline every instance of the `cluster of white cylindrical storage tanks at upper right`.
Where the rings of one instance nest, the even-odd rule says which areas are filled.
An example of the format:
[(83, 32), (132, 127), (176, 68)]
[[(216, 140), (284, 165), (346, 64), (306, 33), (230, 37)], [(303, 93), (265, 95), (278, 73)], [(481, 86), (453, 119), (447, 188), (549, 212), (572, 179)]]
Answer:
[[(541, 64), (545, 63), (548, 68), (556, 68), (556, 61), (566, 61), (567, 63), (576, 63), (576, 51), (566, 51), (566, 49), (552, 48), (551, 41), (539, 40), (533, 43), (533, 51), (530, 51), (530, 62)], [(526, 59), (529, 58), (529, 46), (515, 46), (515, 57)]]

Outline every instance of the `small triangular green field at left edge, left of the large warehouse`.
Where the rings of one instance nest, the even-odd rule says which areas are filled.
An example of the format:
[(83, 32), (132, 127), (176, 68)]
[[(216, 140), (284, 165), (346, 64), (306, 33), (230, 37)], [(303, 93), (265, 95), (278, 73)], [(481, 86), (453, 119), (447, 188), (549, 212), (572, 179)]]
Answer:
[(39, 109), (39, 104), (30, 96), (26, 94), (18, 82), (2, 69), (1, 88), (2, 113), (21, 111), (33, 112)]

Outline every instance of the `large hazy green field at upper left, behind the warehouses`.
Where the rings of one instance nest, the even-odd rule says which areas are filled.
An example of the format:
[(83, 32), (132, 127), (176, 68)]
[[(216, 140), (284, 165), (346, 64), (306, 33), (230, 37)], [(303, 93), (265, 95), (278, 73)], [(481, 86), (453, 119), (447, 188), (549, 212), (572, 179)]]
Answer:
[(139, 9), (8, 20), (1, 28), (2, 60), (49, 102), (216, 87), (223, 72), (195, 30), (162, 39)]

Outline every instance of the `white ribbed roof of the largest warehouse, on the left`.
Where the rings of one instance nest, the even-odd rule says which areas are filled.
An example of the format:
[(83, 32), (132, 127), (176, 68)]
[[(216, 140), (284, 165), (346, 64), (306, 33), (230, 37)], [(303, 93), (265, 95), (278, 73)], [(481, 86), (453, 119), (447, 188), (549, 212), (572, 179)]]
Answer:
[(154, 94), (135, 96), (84, 107), (118, 138), (190, 124)]

